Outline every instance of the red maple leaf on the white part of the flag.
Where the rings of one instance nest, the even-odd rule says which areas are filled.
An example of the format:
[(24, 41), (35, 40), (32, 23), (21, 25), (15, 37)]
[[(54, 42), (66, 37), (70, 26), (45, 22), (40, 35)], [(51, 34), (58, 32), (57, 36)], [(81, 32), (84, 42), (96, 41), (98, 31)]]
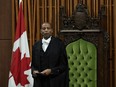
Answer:
[(24, 86), (25, 84), (28, 84), (29, 81), (27, 80), (27, 75), (24, 74), (24, 72), (28, 69), (30, 69), (30, 58), (24, 57), (21, 59), (21, 52), (18, 48), (15, 52), (13, 52), (13, 58), (11, 63), (11, 73), (14, 77), (15, 84), (18, 85), (19, 83)]

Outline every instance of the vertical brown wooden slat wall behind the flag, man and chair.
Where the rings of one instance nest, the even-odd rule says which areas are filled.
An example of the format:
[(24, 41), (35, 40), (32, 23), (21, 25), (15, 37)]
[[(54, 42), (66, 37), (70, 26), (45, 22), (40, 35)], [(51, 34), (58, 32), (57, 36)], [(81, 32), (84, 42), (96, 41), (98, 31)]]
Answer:
[[(59, 32), (59, 10), (60, 6), (64, 6), (66, 14), (72, 15), (76, 5), (82, 1), (88, 7), (89, 15), (97, 17), (101, 6), (105, 6), (106, 17), (103, 21), (103, 28), (110, 36), (110, 86), (114, 87), (114, 28), (113, 28), (113, 0), (23, 0), (23, 10), (28, 32), (30, 53), (32, 45), (36, 40), (41, 38), (40, 28), (43, 22), (50, 22), (54, 29), (54, 35)], [(12, 41), (14, 40), (15, 27), (18, 14), (18, 0), (12, 0)]]

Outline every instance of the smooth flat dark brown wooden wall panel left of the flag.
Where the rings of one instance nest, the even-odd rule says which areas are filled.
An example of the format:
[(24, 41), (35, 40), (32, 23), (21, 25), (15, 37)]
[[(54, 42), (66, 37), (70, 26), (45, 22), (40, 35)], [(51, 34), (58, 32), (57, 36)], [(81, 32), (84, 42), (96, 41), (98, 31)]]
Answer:
[(12, 54), (11, 0), (0, 0), (0, 87), (8, 87)]

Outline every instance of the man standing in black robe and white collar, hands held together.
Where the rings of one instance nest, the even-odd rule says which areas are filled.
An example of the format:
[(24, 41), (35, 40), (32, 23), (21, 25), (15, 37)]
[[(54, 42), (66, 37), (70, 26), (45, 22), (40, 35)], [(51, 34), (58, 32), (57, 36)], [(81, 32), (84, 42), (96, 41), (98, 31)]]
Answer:
[(68, 61), (63, 42), (52, 36), (50, 23), (43, 23), (43, 39), (32, 50), (34, 87), (68, 87)]

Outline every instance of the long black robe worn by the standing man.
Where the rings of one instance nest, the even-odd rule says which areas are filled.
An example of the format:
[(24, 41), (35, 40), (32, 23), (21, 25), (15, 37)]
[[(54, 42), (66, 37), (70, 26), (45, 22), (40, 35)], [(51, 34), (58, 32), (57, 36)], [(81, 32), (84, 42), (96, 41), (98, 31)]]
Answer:
[(66, 49), (60, 39), (52, 37), (46, 52), (42, 49), (42, 40), (36, 42), (32, 50), (31, 67), (32, 71), (41, 72), (44, 69), (52, 71), (52, 74), (45, 78), (41, 75), (34, 77), (34, 87), (69, 87)]

